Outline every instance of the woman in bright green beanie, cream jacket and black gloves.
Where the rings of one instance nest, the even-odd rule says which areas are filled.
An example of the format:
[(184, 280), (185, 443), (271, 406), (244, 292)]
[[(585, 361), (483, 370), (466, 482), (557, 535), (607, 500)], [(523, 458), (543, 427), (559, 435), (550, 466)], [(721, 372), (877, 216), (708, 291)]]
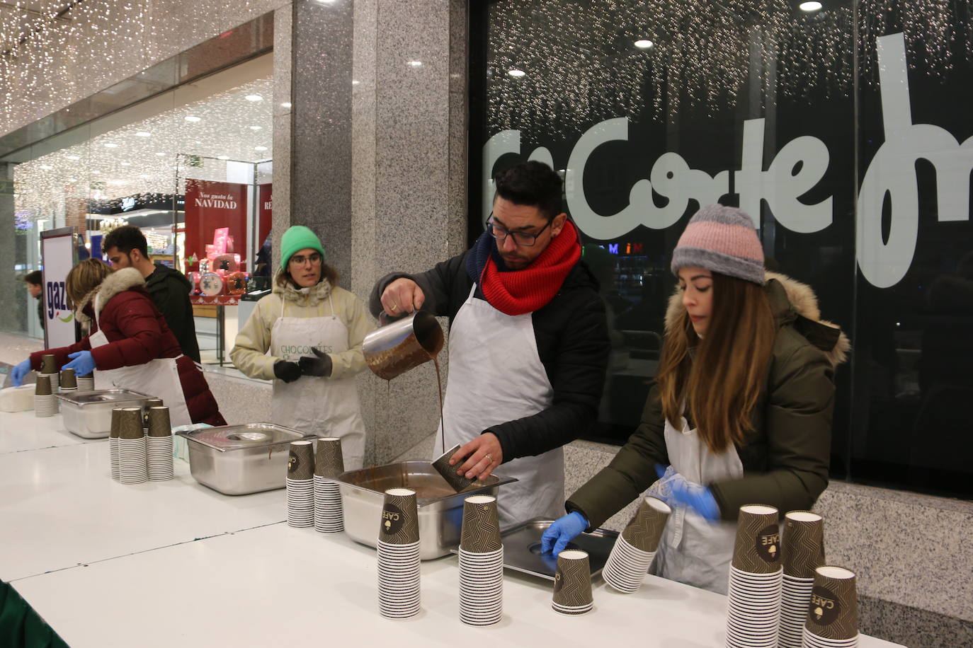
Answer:
[(362, 341), (374, 326), (361, 300), (339, 288), (310, 229), (284, 232), (280, 257), (273, 289), (236, 334), (230, 358), (247, 376), (273, 380), (274, 423), (340, 437), (344, 468), (360, 468), (365, 422), (354, 377), (365, 369)]

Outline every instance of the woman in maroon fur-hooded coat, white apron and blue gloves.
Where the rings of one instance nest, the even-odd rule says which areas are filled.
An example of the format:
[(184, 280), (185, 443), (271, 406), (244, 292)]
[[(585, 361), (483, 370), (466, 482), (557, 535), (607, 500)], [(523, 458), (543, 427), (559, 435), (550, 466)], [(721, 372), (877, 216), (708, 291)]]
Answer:
[(202, 371), (179, 350), (138, 270), (112, 272), (104, 261), (89, 258), (67, 273), (65, 290), (76, 318), (91, 322), (90, 334), (71, 346), (31, 354), (11, 372), (15, 386), (40, 368), (43, 355), (54, 354), (58, 366), (79, 376), (94, 370), (102, 388), (162, 398), (172, 426), (227, 425)]

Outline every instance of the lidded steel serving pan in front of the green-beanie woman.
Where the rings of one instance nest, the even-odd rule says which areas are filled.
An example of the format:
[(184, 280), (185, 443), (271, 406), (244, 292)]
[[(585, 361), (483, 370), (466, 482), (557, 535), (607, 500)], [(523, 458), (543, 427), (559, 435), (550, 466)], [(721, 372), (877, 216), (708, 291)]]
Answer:
[(224, 495), (284, 488), (289, 444), (316, 438), (272, 423), (205, 427), (176, 434), (188, 442), (193, 478)]

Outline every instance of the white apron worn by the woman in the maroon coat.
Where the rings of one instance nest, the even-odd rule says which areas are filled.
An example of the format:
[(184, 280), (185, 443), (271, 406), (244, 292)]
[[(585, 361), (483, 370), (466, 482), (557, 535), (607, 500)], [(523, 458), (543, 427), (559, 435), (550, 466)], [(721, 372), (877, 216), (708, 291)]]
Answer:
[[(88, 338), (92, 349), (110, 344), (108, 338), (101, 332), (101, 322), (98, 317), (98, 296), (100, 295), (95, 295), (94, 303), (94, 322), (98, 325), (98, 330)], [(181, 354), (179, 358), (182, 358)], [(156, 358), (145, 364), (119, 367), (108, 371), (95, 369), (94, 382), (97, 385), (111, 385), (123, 390), (162, 398), (162, 404), (169, 408), (170, 425), (173, 427), (189, 426), (193, 423), (193, 420), (189, 416), (186, 394), (183, 393), (182, 383), (179, 381), (176, 359)]]

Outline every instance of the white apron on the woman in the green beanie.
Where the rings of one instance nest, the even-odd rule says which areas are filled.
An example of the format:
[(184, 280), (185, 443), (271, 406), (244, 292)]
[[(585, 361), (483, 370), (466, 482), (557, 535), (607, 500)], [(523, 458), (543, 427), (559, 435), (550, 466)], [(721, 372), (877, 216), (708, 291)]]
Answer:
[[(280, 317), (270, 329), (271, 356), (297, 362), (304, 356), (316, 358), (312, 347), (327, 354), (348, 350), (348, 329), (335, 316), (331, 295), (328, 295), (330, 317), (285, 318), (286, 302), (281, 298)], [(319, 311), (323, 303), (318, 302)], [(365, 422), (354, 377), (301, 376), (293, 383), (274, 380), (271, 411), (273, 422), (281, 426), (318, 436), (340, 437), (344, 469), (362, 467)]]

